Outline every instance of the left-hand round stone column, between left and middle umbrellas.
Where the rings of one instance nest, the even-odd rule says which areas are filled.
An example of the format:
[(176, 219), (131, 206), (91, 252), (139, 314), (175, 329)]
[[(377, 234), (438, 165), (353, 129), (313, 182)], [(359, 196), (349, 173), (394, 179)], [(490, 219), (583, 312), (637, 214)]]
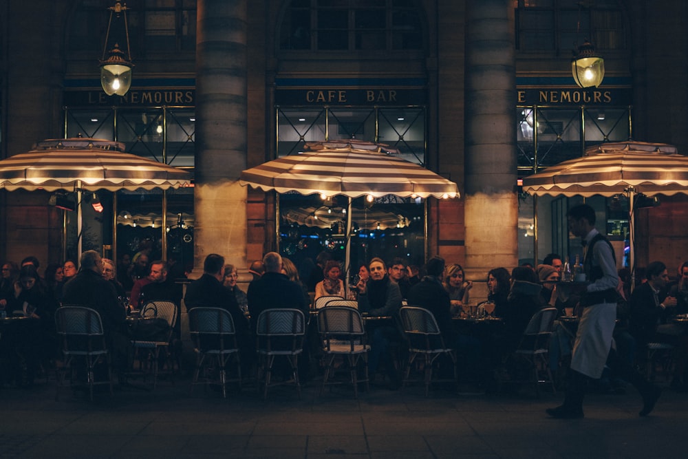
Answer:
[(246, 0), (198, 0), (194, 273), (210, 253), (246, 266)]

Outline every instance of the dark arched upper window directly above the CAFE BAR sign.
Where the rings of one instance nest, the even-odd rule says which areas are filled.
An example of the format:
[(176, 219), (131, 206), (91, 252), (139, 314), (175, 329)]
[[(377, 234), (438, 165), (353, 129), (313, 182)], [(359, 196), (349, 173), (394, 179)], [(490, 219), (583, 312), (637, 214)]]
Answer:
[(292, 0), (281, 24), (281, 50), (421, 50), (414, 0)]

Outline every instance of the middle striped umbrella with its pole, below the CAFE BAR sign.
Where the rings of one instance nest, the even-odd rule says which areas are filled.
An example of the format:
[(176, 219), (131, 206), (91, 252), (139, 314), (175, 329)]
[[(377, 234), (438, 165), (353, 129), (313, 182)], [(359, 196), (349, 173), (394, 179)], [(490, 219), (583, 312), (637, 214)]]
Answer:
[(352, 199), (369, 195), (381, 198), (458, 198), (458, 186), (424, 167), (394, 156), (388, 145), (362, 140), (312, 142), (303, 153), (284, 156), (241, 172), (239, 183), (278, 193), (319, 193), (323, 198), (349, 198), (345, 269), (348, 282), (351, 252)]

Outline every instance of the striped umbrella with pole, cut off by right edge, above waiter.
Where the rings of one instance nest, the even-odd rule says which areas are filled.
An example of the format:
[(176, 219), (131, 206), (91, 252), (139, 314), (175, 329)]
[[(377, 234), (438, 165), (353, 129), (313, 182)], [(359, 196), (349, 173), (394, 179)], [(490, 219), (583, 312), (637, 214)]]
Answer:
[(634, 266), (634, 196), (688, 193), (688, 156), (674, 145), (648, 142), (603, 143), (585, 150), (585, 156), (561, 162), (523, 179), (523, 190), (533, 195), (613, 196), (629, 198), (629, 260)]

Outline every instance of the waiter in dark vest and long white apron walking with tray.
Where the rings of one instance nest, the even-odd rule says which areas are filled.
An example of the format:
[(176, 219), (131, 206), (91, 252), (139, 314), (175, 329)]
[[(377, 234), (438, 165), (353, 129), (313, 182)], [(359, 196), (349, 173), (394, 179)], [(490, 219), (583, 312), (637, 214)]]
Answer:
[(638, 389), (643, 397), (643, 409), (638, 414), (647, 416), (652, 412), (661, 389), (649, 383), (612, 349), (618, 295), (616, 285), (619, 283), (614, 248), (594, 227), (595, 211), (588, 204), (572, 207), (566, 217), (569, 231), (572, 235), (581, 237), (583, 246), (587, 248), (583, 269), (590, 284), (585, 285), (585, 290), (581, 292), (583, 313), (573, 346), (563, 405), (549, 408), (546, 412), (553, 418), (582, 418), (588, 378), (600, 378), (606, 364)]

